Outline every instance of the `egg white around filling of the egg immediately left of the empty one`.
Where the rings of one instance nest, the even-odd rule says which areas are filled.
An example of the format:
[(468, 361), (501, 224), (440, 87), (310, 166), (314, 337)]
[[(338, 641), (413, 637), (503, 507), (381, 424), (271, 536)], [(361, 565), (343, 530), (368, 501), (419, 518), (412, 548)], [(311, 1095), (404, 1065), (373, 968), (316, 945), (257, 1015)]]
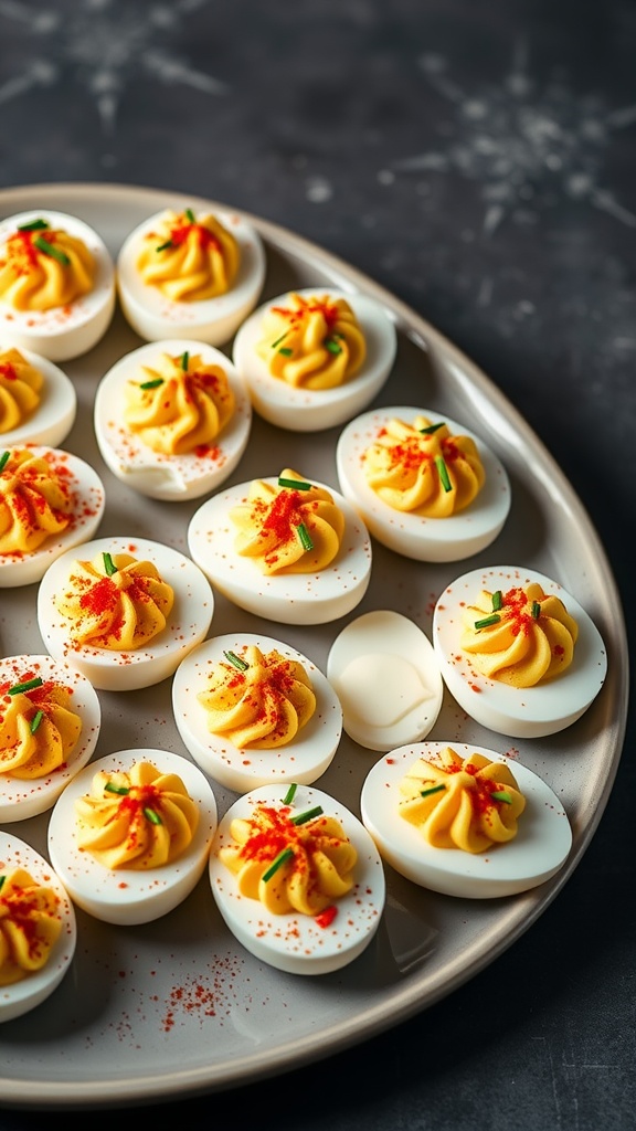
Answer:
[[(316, 696), (312, 718), (293, 741), (272, 750), (238, 749), (222, 734), (210, 734), (207, 711), (198, 701), (208, 687), (207, 673), (226, 651), (241, 654), (256, 645), (263, 654), (276, 649), (302, 664)], [(247, 793), (257, 786), (285, 783), (309, 785), (330, 765), (342, 734), (342, 708), (323, 673), (301, 653), (270, 637), (230, 633), (195, 648), (179, 665), (172, 683), (172, 707), (179, 733), (195, 761), (227, 789)]]

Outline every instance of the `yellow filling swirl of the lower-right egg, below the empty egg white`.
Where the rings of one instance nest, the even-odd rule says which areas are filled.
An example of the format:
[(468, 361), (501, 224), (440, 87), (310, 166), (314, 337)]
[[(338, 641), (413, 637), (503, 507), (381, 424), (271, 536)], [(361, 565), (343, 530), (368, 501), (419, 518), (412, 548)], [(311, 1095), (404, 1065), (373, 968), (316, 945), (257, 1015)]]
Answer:
[(505, 762), (473, 753), (462, 759), (450, 746), (438, 761), (419, 758), (399, 791), (398, 813), (433, 848), (485, 852), (517, 835), (525, 797)]

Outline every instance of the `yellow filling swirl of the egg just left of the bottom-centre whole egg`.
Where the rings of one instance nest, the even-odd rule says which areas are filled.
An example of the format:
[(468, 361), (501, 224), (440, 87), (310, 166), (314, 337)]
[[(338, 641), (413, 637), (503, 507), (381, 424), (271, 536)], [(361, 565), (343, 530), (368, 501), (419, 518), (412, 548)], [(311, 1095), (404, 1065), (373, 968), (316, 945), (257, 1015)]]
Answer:
[(113, 870), (172, 863), (191, 844), (199, 821), (181, 778), (152, 762), (137, 762), (128, 772), (98, 770), (75, 808), (78, 847)]

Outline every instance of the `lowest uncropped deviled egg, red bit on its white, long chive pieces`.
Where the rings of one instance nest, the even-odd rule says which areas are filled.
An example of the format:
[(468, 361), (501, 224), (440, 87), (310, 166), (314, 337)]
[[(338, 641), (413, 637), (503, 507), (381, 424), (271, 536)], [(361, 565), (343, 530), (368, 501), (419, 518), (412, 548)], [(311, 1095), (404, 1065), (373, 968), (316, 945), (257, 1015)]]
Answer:
[(309, 786), (261, 786), (218, 824), (209, 856), (216, 905), (239, 942), (290, 974), (352, 962), (379, 926), (386, 886), (358, 818)]

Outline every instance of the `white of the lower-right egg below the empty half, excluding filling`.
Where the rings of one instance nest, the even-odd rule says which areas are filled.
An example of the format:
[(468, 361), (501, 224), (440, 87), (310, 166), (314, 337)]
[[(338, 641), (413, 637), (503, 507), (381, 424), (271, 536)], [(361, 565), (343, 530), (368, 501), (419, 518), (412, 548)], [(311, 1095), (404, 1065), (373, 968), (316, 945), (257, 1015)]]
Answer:
[(392, 750), (372, 767), (362, 786), (362, 821), (387, 864), (431, 891), (466, 899), (512, 896), (543, 883), (558, 872), (571, 847), (567, 815), (550, 787), (512, 759), (482, 746), (450, 743), (462, 758), (483, 754), (509, 766), (526, 808), (513, 840), (483, 853), (436, 848), (398, 813), (399, 783), (418, 758), (435, 757), (447, 742), (424, 742)]

